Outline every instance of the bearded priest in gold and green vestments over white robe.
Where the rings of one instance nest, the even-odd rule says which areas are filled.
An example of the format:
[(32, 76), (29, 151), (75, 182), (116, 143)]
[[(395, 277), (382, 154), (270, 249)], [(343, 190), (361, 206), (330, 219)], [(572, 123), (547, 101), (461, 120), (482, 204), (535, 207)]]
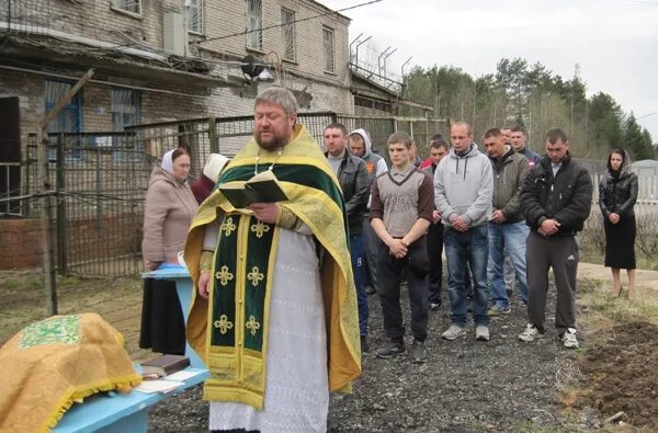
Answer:
[(329, 391), (361, 372), (344, 202), (293, 93), (269, 88), (254, 112), (218, 184), (271, 170), (288, 200), (236, 209), (216, 189), (198, 208), (188, 340), (211, 371), (211, 430), (324, 432)]

